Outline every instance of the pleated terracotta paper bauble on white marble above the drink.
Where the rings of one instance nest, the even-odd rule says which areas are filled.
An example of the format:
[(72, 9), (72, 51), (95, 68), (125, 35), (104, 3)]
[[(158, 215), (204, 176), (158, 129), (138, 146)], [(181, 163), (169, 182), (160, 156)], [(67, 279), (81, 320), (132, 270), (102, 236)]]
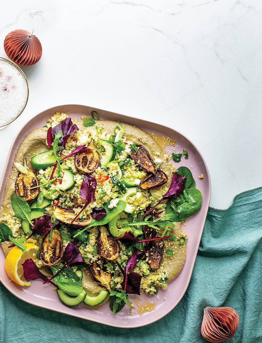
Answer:
[(26, 30), (10, 32), (4, 39), (4, 50), (12, 61), (22, 66), (32, 66), (42, 55), (39, 39)]

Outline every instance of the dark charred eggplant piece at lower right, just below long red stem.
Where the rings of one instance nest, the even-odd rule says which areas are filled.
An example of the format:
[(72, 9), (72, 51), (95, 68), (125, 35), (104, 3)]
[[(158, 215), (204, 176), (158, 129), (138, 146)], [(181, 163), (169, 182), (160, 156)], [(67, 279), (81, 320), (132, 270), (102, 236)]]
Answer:
[(147, 264), (153, 270), (157, 270), (160, 267), (164, 252), (164, 241), (163, 239), (152, 240), (146, 242), (144, 251), (145, 257), (148, 258)]

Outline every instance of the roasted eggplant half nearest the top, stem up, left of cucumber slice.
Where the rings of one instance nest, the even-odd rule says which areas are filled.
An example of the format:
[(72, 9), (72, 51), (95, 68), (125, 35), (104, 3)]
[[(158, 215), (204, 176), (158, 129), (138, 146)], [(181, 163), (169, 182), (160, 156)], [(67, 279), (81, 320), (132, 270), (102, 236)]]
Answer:
[(75, 168), (80, 174), (94, 173), (100, 164), (100, 157), (95, 149), (95, 143), (93, 139), (87, 145), (87, 148), (92, 150), (83, 149), (82, 152), (75, 155)]

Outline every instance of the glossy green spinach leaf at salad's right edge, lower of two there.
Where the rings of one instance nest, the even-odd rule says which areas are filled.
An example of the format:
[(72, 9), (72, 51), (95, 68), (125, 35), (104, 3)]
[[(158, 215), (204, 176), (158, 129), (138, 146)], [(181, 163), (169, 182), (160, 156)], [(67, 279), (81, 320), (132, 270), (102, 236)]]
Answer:
[[(201, 206), (202, 194), (196, 188), (190, 188), (183, 191), (179, 197), (172, 197), (170, 204), (167, 204), (166, 211), (173, 209), (172, 221), (182, 222), (183, 220), (195, 214)], [(170, 212), (169, 212), (170, 213)]]

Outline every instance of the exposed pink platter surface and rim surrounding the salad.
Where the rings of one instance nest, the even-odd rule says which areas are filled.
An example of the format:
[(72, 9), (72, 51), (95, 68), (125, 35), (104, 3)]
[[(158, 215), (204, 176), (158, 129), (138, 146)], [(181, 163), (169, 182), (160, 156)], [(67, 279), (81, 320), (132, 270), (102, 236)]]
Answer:
[[(121, 312), (118, 314), (113, 315), (109, 309), (108, 303), (104, 304), (97, 310), (92, 310), (87, 308), (84, 304), (80, 304), (74, 307), (67, 307), (64, 305), (57, 296), (57, 293), (53, 290), (53, 287), (49, 284), (43, 285), (40, 280), (32, 281), (32, 285), (30, 287), (21, 287), (16, 285), (14, 282), (10, 282), (9, 277), (5, 273), (4, 269), (4, 255), (2, 250), (0, 249), (0, 281), (2, 284), (17, 298), (26, 301), (29, 304), (43, 307), (52, 311), (60, 312), (63, 314), (67, 314), (74, 317), (79, 317), (87, 320), (91, 320), (94, 322), (106, 324), (112, 327), (118, 328), (138, 328), (141, 326), (145, 326), (155, 321), (163, 318), (166, 316), (181, 300), (184, 293), (187, 290), (192, 270), (195, 263), (196, 254), (198, 252), (198, 247), (200, 244), (204, 223), (207, 215), (207, 211), (209, 209), (209, 202), (211, 196), (211, 182), (210, 182), (210, 175), (207, 169), (206, 163), (199, 152), (199, 150), (195, 147), (195, 145), (184, 135), (181, 133), (162, 126), (156, 123), (148, 122), (142, 119), (136, 119), (128, 116), (123, 116), (117, 113), (112, 113), (104, 110), (100, 110), (97, 108), (92, 108), (83, 105), (62, 105), (53, 108), (49, 108), (40, 114), (36, 115), (32, 119), (30, 119), (17, 133), (16, 137), (14, 138), (8, 158), (7, 163), (5, 164), (3, 177), (1, 180), (1, 189), (0, 189), (0, 202), (3, 199), (3, 193), (5, 184), (7, 179), (10, 175), (14, 155), (16, 152), (17, 147), (24, 139), (25, 135), (33, 130), (34, 128), (41, 127), (46, 125), (46, 120), (51, 118), (51, 116), (56, 112), (59, 111), (67, 113), (69, 117), (78, 118), (81, 120), (82, 115), (86, 115), (87, 117), (91, 116), (91, 111), (95, 110), (100, 115), (100, 119), (109, 119), (109, 120), (119, 120), (121, 122), (126, 122), (131, 125), (135, 125), (141, 129), (144, 129), (148, 132), (154, 132), (158, 134), (164, 134), (171, 139), (176, 139), (176, 145), (179, 147), (174, 147), (174, 150), (178, 152), (185, 149), (189, 153), (189, 159), (186, 160), (182, 157), (180, 163), (176, 163), (176, 168), (180, 165), (186, 166), (191, 168), (193, 177), (196, 181), (196, 188), (200, 189), (202, 192), (202, 206), (201, 209), (192, 217), (187, 220), (185, 226), (182, 226), (183, 230), (188, 234), (188, 241), (187, 241), (187, 257), (186, 263), (180, 273), (180, 275), (168, 284), (168, 287), (165, 290), (159, 289), (159, 292), (156, 296), (148, 296), (142, 294), (141, 296), (130, 296), (131, 300), (133, 299), (133, 303), (135, 308), (133, 309), (136, 313), (133, 313), (131, 316), (128, 314), (130, 309), (128, 306), (124, 307)], [(170, 126), (175, 125), (175, 123), (169, 123)], [(167, 146), (166, 151), (169, 150), (171, 153), (171, 146)], [(204, 175), (203, 179), (199, 179), (200, 174)], [(142, 298), (142, 300), (139, 300)], [(135, 300), (136, 299), (136, 300)], [(145, 311), (142, 316), (139, 315), (139, 310), (143, 305), (147, 305), (148, 307), (152, 307), (152, 302), (155, 303), (155, 310), (152, 311)], [(138, 304), (140, 304), (140, 307)]]

